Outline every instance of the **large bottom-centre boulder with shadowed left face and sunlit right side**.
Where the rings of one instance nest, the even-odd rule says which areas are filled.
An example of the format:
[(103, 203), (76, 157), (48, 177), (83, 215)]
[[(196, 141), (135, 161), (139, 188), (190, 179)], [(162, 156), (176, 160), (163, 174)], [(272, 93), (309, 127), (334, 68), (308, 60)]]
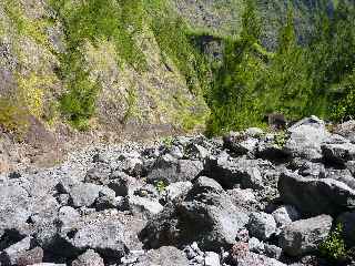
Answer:
[(200, 177), (184, 202), (168, 204), (148, 222), (140, 239), (153, 248), (197, 242), (203, 248), (219, 250), (233, 244), (246, 223), (244, 209), (234, 206), (215, 181)]

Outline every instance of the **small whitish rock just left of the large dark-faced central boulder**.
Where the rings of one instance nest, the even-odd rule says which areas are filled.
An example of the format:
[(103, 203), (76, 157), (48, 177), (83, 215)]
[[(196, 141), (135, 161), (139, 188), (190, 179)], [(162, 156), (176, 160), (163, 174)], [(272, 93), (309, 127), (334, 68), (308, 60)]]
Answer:
[(140, 196), (129, 197), (130, 211), (133, 215), (151, 218), (163, 211), (163, 206), (155, 200)]

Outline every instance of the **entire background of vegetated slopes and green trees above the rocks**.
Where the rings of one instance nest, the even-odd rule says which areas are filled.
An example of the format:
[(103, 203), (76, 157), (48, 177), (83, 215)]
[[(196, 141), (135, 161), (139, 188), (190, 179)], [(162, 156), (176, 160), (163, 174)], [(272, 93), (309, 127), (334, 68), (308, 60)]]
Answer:
[(349, 115), (351, 17), (336, 18), (333, 1), (251, 3), (1, 1), (2, 130), (26, 132), (36, 120), (143, 136), (207, 120), (215, 134), (272, 111), (329, 116), (329, 105), (334, 117)]

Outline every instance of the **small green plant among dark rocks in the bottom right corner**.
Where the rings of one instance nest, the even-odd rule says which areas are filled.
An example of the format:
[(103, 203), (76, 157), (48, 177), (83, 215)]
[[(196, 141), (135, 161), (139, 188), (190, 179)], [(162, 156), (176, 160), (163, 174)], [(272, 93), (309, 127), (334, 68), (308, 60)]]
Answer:
[(320, 245), (320, 253), (329, 262), (344, 260), (347, 257), (347, 249), (342, 237), (343, 225), (338, 224), (328, 237)]

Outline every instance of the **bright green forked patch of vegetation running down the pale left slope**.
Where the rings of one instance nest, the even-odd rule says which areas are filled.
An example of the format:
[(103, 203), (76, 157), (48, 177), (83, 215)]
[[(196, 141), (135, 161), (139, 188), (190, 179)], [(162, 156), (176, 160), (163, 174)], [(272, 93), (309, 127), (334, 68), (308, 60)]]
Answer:
[(55, 0), (52, 7), (65, 29), (67, 51), (60, 54), (60, 76), (65, 81), (68, 92), (60, 101), (61, 110), (74, 126), (87, 129), (88, 120), (95, 113), (100, 84), (85, 66), (84, 45), (87, 42), (98, 45), (101, 40), (109, 40), (115, 45), (118, 63), (144, 70), (145, 58), (134, 41), (134, 35), (142, 30), (142, 2)]

